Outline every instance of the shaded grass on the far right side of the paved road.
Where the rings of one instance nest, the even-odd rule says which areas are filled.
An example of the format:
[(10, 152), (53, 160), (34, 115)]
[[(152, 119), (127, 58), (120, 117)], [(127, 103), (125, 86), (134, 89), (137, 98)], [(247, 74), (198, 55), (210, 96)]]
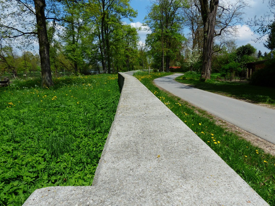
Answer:
[(177, 77), (176, 80), (201, 90), (275, 106), (275, 88), (253, 86), (248, 83), (240, 83), (238, 80), (236, 82), (219, 81), (217, 76), (219, 74), (212, 74), (210, 80), (201, 82), (199, 73), (186, 72), (184, 76)]

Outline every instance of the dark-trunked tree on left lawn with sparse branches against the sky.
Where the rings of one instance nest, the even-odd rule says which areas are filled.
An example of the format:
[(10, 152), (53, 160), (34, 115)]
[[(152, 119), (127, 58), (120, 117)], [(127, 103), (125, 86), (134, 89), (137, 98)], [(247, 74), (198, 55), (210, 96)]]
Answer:
[(53, 86), (47, 36), (45, 0), (2, 0), (0, 28), (9, 38), (37, 35), (41, 61), (42, 87)]

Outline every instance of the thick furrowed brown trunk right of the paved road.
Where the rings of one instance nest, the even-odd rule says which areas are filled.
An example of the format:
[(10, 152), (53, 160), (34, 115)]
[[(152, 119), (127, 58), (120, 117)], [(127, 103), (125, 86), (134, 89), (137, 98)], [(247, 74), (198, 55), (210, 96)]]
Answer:
[(200, 4), (203, 19), (203, 67), (201, 80), (206, 80), (210, 79), (211, 76), (213, 39), (219, 0), (211, 0), (210, 2), (208, 0), (200, 0)]

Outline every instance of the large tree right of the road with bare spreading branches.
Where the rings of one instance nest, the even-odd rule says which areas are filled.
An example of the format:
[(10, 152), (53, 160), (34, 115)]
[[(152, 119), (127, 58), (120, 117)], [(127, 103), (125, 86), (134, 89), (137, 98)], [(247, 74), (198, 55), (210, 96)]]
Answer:
[(242, 10), (247, 3), (243, 0), (188, 2), (190, 7), (184, 10), (187, 19), (185, 25), (192, 32), (192, 49), (199, 46), (203, 51), (201, 79), (207, 79), (211, 75), (212, 54), (231, 44), (229, 36), (237, 35), (236, 24), (242, 21)]

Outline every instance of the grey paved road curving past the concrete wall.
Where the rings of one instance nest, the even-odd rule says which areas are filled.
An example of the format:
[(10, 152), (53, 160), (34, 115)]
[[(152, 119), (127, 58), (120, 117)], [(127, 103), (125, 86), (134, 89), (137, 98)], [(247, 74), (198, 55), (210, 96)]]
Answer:
[(275, 110), (176, 82), (174, 78), (181, 75), (157, 78), (154, 83), (191, 104), (275, 144)]

